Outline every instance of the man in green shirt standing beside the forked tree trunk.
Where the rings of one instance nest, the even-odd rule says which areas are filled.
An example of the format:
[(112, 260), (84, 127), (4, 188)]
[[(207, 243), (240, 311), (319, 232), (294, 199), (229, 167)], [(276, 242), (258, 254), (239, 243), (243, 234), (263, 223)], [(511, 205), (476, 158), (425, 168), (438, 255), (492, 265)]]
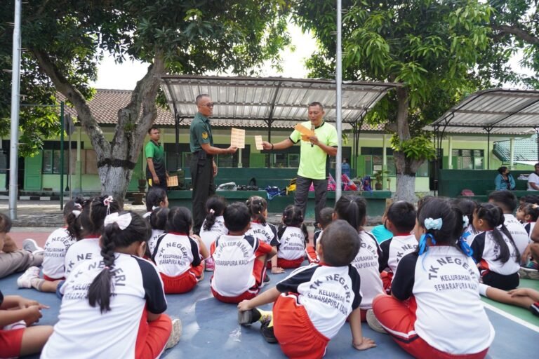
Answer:
[(166, 191), (166, 179), (168, 173), (165, 165), (165, 151), (159, 143), (161, 133), (157, 126), (148, 130), (149, 142), (144, 150), (146, 154), (146, 179), (149, 187), (161, 187)]

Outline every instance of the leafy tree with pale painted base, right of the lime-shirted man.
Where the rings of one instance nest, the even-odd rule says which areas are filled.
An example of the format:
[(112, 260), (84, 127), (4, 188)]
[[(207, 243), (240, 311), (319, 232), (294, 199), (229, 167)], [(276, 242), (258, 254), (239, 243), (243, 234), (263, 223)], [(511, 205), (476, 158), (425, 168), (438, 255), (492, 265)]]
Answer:
[[(335, 69), (335, 1), (298, 1), (295, 20), (320, 49), (307, 62), (311, 76)], [(390, 81), (369, 121), (393, 133), (397, 194), (415, 198), (415, 172), (434, 147), (422, 128), (463, 95), (484, 86), (474, 73), (489, 46), (491, 7), (478, 0), (342, 1), (343, 80)]]

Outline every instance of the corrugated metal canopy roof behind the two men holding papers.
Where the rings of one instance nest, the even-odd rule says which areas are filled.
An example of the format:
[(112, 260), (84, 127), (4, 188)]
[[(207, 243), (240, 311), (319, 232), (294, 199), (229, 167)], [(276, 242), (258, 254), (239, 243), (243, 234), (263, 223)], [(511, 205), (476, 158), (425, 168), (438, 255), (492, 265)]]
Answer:
[[(315, 79), (250, 78), (217, 76), (161, 76), (162, 88), (171, 111), (189, 124), (197, 111), (194, 99), (210, 95), (213, 126), (293, 128), (307, 120), (307, 104), (324, 105), (328, 122), (335, 122), (335, 81)], [(359, 121), (396, 83), (347, 82), (342, 85), (343, 129)], [(367, 130), (379, 130), (367, 126)]]

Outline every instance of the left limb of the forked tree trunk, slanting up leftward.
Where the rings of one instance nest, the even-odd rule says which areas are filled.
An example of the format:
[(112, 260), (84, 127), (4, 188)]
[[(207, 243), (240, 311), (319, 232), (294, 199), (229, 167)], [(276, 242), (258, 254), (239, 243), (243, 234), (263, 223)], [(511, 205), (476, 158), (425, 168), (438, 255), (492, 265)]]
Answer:
[(105, 135), (103, 135), (98, 122), (95, 121), (84, 96), (69, 83), (48, 54), (36, 48), (29, 48), (29, 50), (36, 58), (39, 67), (53, 81), (55, 88), (74, 104), (77, 118), (79, 118), (81, 125), (86, 130), (86, 133), (88, 133), (98, 158), (107, 158), (110, 152), (110, 144), (105, 140)]

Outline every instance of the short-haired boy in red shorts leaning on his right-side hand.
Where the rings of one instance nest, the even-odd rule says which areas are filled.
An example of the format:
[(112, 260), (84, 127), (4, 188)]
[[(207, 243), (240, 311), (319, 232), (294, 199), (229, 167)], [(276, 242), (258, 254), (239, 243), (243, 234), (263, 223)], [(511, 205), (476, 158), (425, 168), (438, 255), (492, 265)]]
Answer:
[[(375, 346), (364, 338), (359, 317), (360, 278), (350, 262), (359, 251), (357, 231), (337, 220), (324, 230), (317, 243), (321, 263), (295, 269), (275, 287), (238, 304), (239, 324), (262, 323), (266, 341), (278, 342), (290, 358), (321, 358), (329, 341), (350, 316), (352, 346)], [(274, 302), (272, 311), (257, 306)]]

